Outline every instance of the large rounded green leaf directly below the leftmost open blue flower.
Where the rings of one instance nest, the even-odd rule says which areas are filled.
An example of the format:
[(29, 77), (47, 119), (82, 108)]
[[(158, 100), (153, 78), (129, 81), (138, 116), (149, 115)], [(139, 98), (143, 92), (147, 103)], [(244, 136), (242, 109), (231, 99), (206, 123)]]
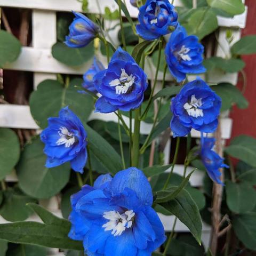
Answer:
[(56, 195), (69, 181), (69, 164), (48, 169), (45, 167), (44, 144), (39, 138), (24, 148), (17, 165), (19, 187), (35, 198), (49, 198)]

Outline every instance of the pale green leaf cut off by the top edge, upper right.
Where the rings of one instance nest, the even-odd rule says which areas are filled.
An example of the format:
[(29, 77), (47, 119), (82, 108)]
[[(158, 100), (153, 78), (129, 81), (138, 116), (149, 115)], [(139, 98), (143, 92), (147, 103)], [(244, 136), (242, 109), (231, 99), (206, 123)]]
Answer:
[(232, 15), (242, 14), (245, 11), (242, 0), (206, 0), (214, 8), (221, 9)]

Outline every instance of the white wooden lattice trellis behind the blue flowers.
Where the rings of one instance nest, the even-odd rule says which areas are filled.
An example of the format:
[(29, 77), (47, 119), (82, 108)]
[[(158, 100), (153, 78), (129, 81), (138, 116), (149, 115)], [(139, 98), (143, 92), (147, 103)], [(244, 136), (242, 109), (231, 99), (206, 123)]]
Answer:
[[(137, 18), (138, 10), (131, 6), (130, 1), (126, 0), (127, 9), (129, 10), (131, 17)], [(182, 6), (180, 0), (174, 1), (175, 6)], [(76, 74), (82, 75), (89, 67), (91, 63), (87, 62), (79, 67), (69, 67), (59, 61), (55, 60), (51, 54), (51, 46), (57, 41), (56, 36), (56, 12), (64, 11), (70, 12), (71, 10), (81, 12), (81, 3), (76, 0), (0, 0), (0, 7), (15, 7), (15, 8), (25, 8), (32, 9), (32, 24), (33, 24), (33, 45), (31, 47), (22, 47), (22, 52), (17, 61), (10, 63), (4, 67), (4, 69), (10, 70), (22, 70), (22, 71), (32, 71), (34, 72), (34, 89), (37, 85), (44, 79), (55, 79), (56, 74)], [(117, 5), (114, 0), (100, 0), (100, 7), (103, 11), (105, 7), (109, 7), (110, 10), (114, 11), (117, 9)], [(89, 0), (89, 12), (99, 13), (100, 12), (95, 0)], [(218, 45), (216, 50), (216, 55), (219, 57), (226, 57), (229, 55), (229, 45), (226, 41), (226, 31), (231, 29), (233, 31), (234, 41), (238, 41), (241, 36), (241, 28), (245, 27), (246, 23), (246, 11), (241, 15), (236, 15), (234, 18), (223, 18), (218, 17), (218, 24), (221, 27), (218, 41), (221, 43)], [(224, 51), (224, 52), (223, 52)], [(103, 60), (104, 61), (104, 60)], [(153, 71), (154, 67), (153, 67)], [(150, 74), (151, 70), (146, 67), (146, 73)], [(158, 80), (161, 81), (163, 74), (160, 73)], [(208, 76), (208, 81), (212, 83), (219, 82), (230, 82), (234, 85), (237, 83), (237, 73), (223, 73), (222, 71), (212, 72)], [(150, 78), (150, 76), (149, 76)], [(192, 79), (191, 77), (190, 79)], [(170, 81), (171, 76), (166, 76), (166, 80)], [(114, 121), (117, 122), (117, 118), (113, 114), (99, 114), (93, 113), (90, 119), (103, 119), (104, 121)], [(129, 120), (125, 118), (128, 123)], [(221, 132), (222, 139), (226, 140), (230, 138), (231, 135), (231, 125), (232, 121), (228, 117), (223, 117), (221, 119)], [(29, 106), (19, 106), (19, 105), (0, 105), (0, 127), (10, 127), (10, 128), (20, 128), (20, 129), (38, 129), (39, 127), (35, 123), (34, 119), (31, 117)], [(151, 130), (151, 125), (142, 122), (141, 133), (148, 134)], [(199, 132), (193, 130), (191, 136), (194, 138), (199, 138)], [(165, 149), (165, 163), (169, 163), (170, 155), (170, 141), (167, 143)], [(190, 171), (190, 170), (188, 170)], [(174, 172), (182, 173), (183, 166), (175, 166)], [(15, 174), (6, 177), (6, 181), (16, 181), (17, 178)], [(203, 174), (197, 171), (193, 174), (190, 179), (191, 185), (194, 187), (202, 186)], [(61, 216), (61, 212), (58, 209), (58, 202), (56, 198), (50, 199), (50, 201), (42, 201), (48, 209), (50, 209), (54, 214)], [(174, 218), (166, 217), (163, 214), (159, 214), (161, 220), (164, 223), (166, 230), (171, 230)], [(38, 220), (37, 217), (31, 217), (33, 220)], [(6, 222), (2, 217), (0, 217), (0, 223)], [(185, 232), (188, 228), (183, 225), (180, 221), (177, 222), (176, 231)], [(203, 243), (207, 247), (210, 241), (210, 231), (211, 227), (208, 225), (203, 225)], [(63, 255), (58, 252), (58, 250), (53, 250), (51, 255)]]

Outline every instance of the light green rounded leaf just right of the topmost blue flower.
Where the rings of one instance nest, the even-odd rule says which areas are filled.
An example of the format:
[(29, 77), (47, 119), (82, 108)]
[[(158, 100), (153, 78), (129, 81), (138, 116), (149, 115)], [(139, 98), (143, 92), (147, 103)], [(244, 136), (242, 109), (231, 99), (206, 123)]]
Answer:
[(211, 9), (203, 7), (191, 14), (187, 23), (182, 25), (185, 26), (189, 35), (196, 35), (201, 40), (218, 28), (218, 20)]

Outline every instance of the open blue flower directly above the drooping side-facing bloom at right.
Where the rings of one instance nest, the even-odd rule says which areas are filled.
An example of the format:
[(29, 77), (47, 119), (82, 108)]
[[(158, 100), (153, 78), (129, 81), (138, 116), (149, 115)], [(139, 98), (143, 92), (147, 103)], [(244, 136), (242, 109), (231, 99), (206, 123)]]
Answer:
[(220, 108), (221, 98), (202, 79), (187, 83), (172, 99), (171, 130), (174, 137), (186, 136), (192, 128), (214, 132)]

